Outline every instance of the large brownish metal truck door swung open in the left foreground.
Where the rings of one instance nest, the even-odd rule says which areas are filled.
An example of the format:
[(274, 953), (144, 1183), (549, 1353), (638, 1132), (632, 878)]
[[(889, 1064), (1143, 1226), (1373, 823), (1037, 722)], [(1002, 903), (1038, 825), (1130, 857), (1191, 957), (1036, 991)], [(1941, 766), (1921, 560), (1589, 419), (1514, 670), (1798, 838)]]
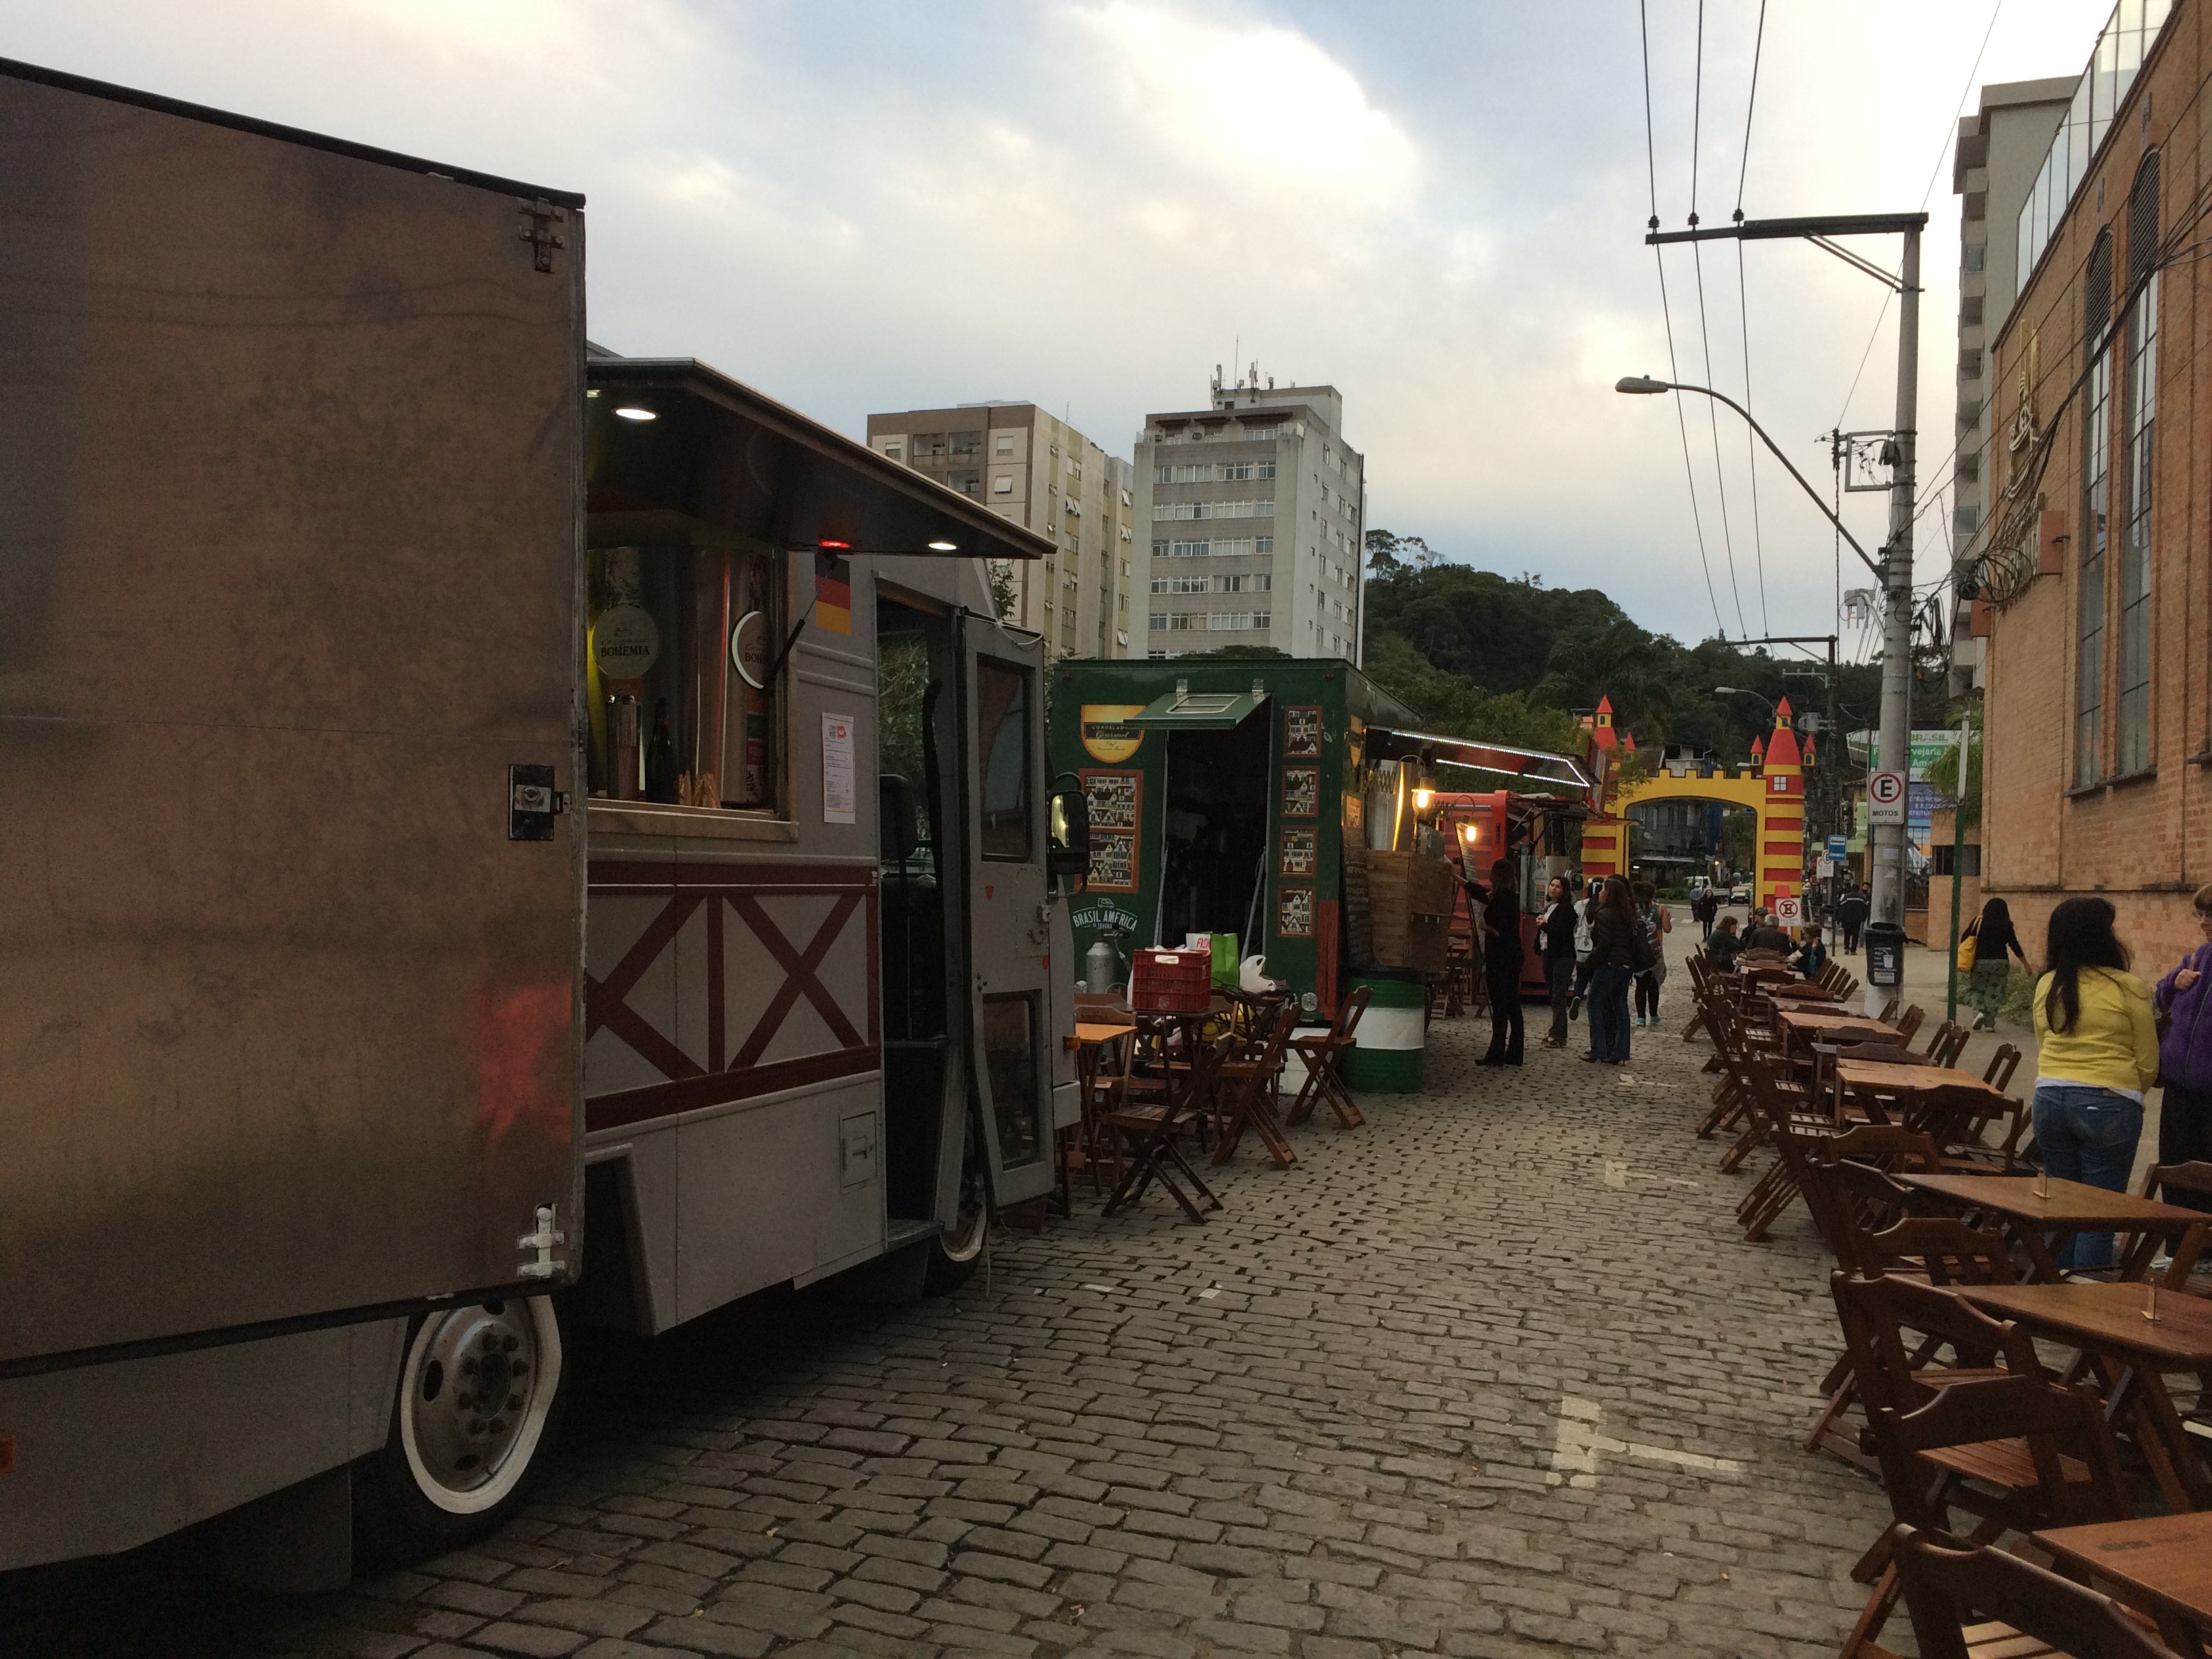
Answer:
[(560, 1283), (580, 199), (9, 64), (0, 177), (0, 1378)]

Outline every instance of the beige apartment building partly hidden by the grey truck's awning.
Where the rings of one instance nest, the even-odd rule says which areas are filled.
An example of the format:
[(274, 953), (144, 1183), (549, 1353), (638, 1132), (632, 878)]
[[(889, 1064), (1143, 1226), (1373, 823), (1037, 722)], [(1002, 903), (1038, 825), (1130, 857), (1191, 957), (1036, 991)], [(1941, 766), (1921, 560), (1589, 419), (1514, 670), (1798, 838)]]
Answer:
[(1035, 403), (958, 403), (867, 418), (867, 447), (1053, 538), (1011, 566), (1006, 619), (1053, 657), (1128, 657), (1144, 628), (1130, 465)]

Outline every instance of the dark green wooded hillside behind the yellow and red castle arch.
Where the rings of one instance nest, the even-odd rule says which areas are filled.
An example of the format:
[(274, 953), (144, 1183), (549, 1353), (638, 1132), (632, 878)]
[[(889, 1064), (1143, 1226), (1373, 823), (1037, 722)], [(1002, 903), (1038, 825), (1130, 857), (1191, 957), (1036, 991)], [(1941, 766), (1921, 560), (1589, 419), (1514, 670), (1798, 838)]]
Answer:
[[(1579, 748), (1575, 714), (1599, 697), (1613, 697), (1615, 723), (1639, 748), (1681, 743), (1730, 763), (1750, 759), (1772, 714), (1717, 686), (1790, 697), (1798, 714), (1827, 706), (1827, 664), (1790, 646), (1683, 646), (1639, 628), (1597, 588), (1451, 564), (1391, 531), (1367, 531), (1365, 670), (1440, 732), (1546, 750)], [(1845, 728), (1874, 723), (1880, 675), (1880, 664), (1838, 668)]]

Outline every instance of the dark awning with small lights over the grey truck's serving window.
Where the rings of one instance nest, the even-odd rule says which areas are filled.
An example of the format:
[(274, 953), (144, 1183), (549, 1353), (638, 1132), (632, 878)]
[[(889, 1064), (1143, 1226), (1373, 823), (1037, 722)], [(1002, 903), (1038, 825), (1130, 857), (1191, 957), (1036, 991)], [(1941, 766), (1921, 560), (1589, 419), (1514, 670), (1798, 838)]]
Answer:
[[(593, 540), (690, 520), (770, 546), (1042, 560), (1053, 542), (695, 358), (584, 363)], [(615, 409), (650, 418), (622, 418)]]

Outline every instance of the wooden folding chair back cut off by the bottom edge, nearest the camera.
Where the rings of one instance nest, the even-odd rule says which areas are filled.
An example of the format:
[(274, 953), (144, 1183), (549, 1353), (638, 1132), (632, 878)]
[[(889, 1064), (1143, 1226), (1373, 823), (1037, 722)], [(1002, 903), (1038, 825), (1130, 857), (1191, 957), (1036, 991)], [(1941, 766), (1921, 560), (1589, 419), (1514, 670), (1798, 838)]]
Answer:
[(2108, 1595), (2017, 1555), (1905, 1524), (1887, 1542), (1920, 1659), (2174, 1659)]

